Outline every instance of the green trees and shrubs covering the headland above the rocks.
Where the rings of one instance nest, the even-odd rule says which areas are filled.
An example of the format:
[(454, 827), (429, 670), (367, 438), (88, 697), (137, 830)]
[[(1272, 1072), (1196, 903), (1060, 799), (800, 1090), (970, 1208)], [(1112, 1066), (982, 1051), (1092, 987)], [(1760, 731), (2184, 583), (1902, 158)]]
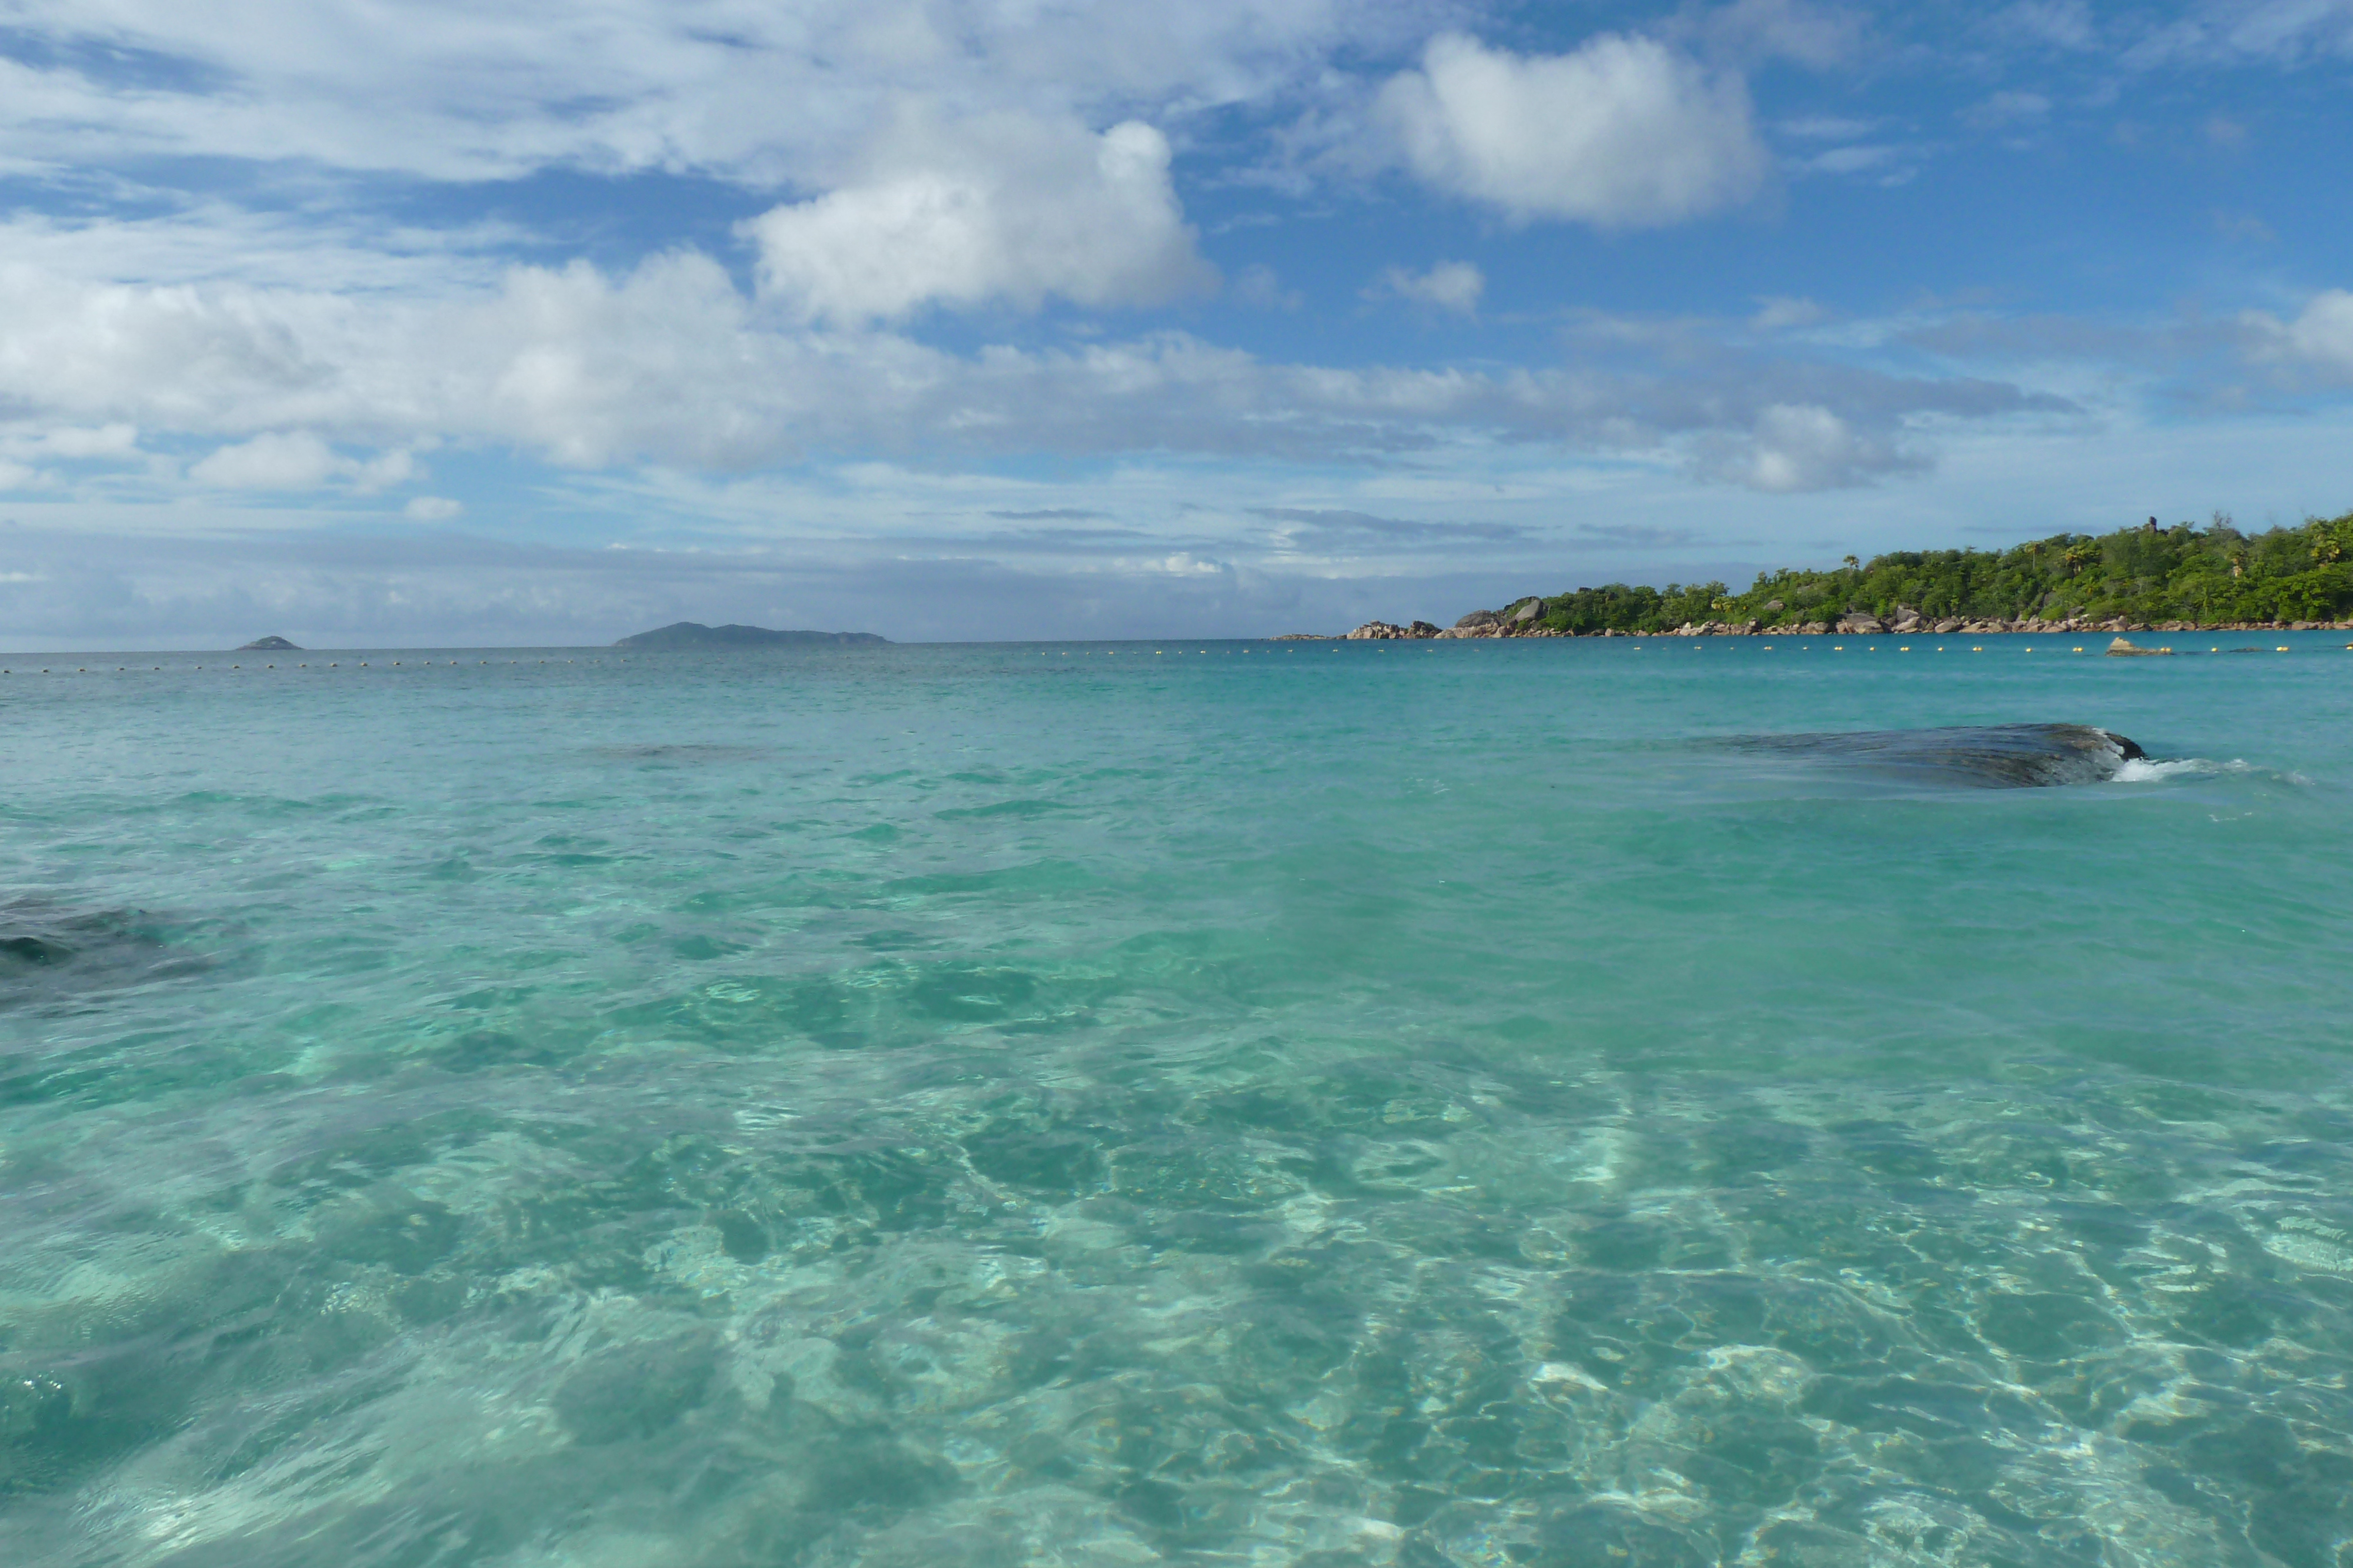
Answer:
[(2134, 625), (2191, 621), (2339, 621), (2353, 614), (2353, 512), (2294, 529), (2240, 534), (2219, 515), (2207, 527), (2054, 534), (2012, 550), (1897, 550), (1835, 571), (1758, 574), (1755, 588), (1722, 583), (1579, 588), (1546, 597), (1544, 628), (1562, 632), (1666, 632), (1685, 623), (1835, 623), (1897, 607), (1929, 621), (2125, 618)]

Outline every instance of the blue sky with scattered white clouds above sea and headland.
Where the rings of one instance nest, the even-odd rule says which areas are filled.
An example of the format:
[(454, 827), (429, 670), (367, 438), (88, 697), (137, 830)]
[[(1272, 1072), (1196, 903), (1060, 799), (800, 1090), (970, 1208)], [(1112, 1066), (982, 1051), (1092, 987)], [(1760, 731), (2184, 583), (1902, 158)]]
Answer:
[(2353, 508), (2353, 0), (0, 0), (0, 646)]

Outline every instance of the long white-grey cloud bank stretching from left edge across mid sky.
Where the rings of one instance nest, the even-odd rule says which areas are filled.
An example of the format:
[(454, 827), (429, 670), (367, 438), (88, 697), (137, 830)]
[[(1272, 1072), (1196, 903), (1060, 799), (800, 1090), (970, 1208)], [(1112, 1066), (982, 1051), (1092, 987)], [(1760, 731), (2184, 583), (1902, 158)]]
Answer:
[[(367, 489), (414, 480), (409, 451), (445, 440), (581, 470), (744, 473), (809, 451), (1388, 463), (1485, 440), (1642, 451), (1748, 433), (1774, 402), (1859, 430), (2049, 402), (2005, 383), (1711, 355), (1661, 331), (1593, 322), (1567, 362), (1529, 369), (1285, 364), (1181, 331), (948, 353), (779, 320), (694, 252), (621, 275), (513, 268), (473, 299), (365, 306), (0, 268), (0, 404), (47, 425), (207, 435), (221, 447), (191, 477), (221, 489)], [(1605, 367), (1628, 355), (1647, 362)]]

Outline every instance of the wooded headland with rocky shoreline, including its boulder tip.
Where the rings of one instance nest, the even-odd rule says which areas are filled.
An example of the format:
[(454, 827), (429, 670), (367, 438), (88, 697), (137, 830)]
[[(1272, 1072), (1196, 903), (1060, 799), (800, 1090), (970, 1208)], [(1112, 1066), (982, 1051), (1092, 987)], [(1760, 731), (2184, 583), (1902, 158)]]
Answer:
[(2151, 517), (2009, 550), (1894, 550), (1831, 571), (1760, 571), (1753, 588), (1609, 583), (1475, 609), (1449, 628), (1367, 621), (1358, 642), (1424, 637), (1739, 637), (1948, 632), (2195, 632), (2353, 625), (2353, 512), (2238, 531)]

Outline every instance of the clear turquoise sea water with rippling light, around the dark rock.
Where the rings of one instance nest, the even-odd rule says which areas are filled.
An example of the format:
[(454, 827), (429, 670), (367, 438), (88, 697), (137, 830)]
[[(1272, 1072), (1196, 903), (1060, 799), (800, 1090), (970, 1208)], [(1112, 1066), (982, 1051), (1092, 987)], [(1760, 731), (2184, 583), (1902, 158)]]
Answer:
[(0, 1559), (2334, 1568), (2353, 654), (1984, 642), (0, 661)]

